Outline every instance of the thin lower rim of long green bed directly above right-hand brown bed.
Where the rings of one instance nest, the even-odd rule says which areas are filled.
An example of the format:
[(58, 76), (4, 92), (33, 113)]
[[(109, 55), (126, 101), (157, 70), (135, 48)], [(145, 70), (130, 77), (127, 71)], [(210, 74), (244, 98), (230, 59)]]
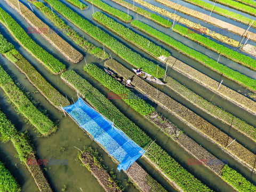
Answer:
[[(166, 44), (166, 45), (168, 45), (168, 46), (171, 46), (170, 44), (168, 44), (168, 43), (162, 41), (162, 39), (157, 38), (157, 37), (155, 37), (155, 36), (151, 36), (151, 34), (148, 33), (146, 30), (143, 30), (143, 29), (141, 29), (141, 28), (139, 28), (139, 27), (137, 27), (137, 26), (132, 25), (132, 23), (131, 23), (131, 26), (134, 27), (134, 28), (136, 28), (136, 29), (138, 29), (138, 30), (140, 30), (140, 31), (142, 31), (143, 33), (149, 35), (150, 37), (153, 37), (153, 38), (157, 39), (157, 41), (162, 42), (162, 43), (164, 43), (164, 44)], [(200, 61), (200, 60), (197, 60), (196, 58), (192, 58), (191, 55), (189, 55), (189, 54), (187, 54), (187, 53), (185, 53), (185, 52), (183, 52), (183, 51), (180, 51), (180, 50), (177, 49), (176, 47), (173, 47), (173, 46), (171, 46), (171, 47), (172, 47), (173, 49), (179, 51), (180, 53), (186, 55), (187, 57), (189, 57), (189, 58), (191, 58), (191, 59), (193, 59), (193, 60), (195, 60), (195, 61), (201, 63), (203, 66), (205, 66), (205, 67), (207, 67), (207, 68), (213, 70), (215, 73), (217, 73), (217, 74), (222, 74), (222, 73), (221, 73), (220, 71), (218, 71), (217, 69), (214, 69), (214, 68), (210, 67), (209, 65), (205, 64), (204, 62), (202, 62), (202, 61)], [(245, 89), (250, 90), (250, 91), (253, 92), (253, 93), (256, 93), (256, 90), (253, 90), (251, 87), (248, 87), (248, 86), (242, 84), (241, 82), (238, 82), (237, 80), (228, 77), (228, 76), (225, 75), (225, 74), (222, 74), (222, 76), (226, 77), (226, 78), (229, 79), (230, 81), (233, 81), (233, 82), (237, 83), (238, 85), (241, 85), (241, 86), (244, 87)]]

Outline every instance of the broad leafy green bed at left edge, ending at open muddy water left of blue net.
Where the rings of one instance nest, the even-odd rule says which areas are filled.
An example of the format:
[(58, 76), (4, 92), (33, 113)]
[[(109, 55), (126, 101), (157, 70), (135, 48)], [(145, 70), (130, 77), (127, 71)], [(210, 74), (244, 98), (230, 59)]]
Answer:
[(39, 133), (46, 137), (56, 131), (57, 126), (33, 105), (1, 66), (0, 86), (18, 113), (28, 119)]

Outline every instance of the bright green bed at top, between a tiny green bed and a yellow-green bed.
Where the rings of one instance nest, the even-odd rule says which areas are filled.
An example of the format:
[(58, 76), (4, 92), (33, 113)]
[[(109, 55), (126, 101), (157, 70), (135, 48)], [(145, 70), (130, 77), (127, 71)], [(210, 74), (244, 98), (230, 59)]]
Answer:
[(119, 20), (123, 22), (131, 22), (132, 16), (124, 13), (123, 11), (120, 11), (118, 9), (115, 9), (114, 7), (111, 7), (110, 5), (100, 1), (100, 0), (85, 0), (88, 3), (91, 3), (93, 6), (98, 7), (100, 10), (105, 11), (106, 13), (118, 18)]

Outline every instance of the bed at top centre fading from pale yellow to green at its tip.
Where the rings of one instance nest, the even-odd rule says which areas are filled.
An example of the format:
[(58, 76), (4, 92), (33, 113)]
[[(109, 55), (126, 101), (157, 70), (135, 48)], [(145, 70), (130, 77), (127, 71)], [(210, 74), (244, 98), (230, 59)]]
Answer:
[(124, 0), (111, 0), (119, 5), (122, 5), (123, 7), (126, 7), (127, 9), (134, 11), (135, 13), (138, 13), (140, 15), (142, 15), (143, 17), (150, 19), (151, 21), (154, 21), (156, 23), (158, 23), (159, 25), (162, 25), (164, 27), (171, 27), (172, 26), (172, 22), (169, 20), (166, 20), (164, 18), (162, 18), (161, 16), (155, 14), (155, 13), (151, 13), (147, 10), (143, 10), (138, 6), (135, 6), (134, 4), (128, 3)]

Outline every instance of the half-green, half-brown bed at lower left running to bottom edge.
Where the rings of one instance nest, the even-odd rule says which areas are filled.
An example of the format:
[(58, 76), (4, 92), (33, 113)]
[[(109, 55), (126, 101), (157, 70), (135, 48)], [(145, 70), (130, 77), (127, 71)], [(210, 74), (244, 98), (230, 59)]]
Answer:
[(0, 133), (3, 142), (12, 142), (17, 150), (18, 157), (23, 164), (26, 164), (29, 172), (33, 176), (35, 183), (40, 191), (52, 192), (52, 189), (46, 180), (41, 167), (37, 164), (35, 150), (30, 144), (28, 134), (20, 133), (14, 125), (7, 119), (5, 114), (0, 110)]

